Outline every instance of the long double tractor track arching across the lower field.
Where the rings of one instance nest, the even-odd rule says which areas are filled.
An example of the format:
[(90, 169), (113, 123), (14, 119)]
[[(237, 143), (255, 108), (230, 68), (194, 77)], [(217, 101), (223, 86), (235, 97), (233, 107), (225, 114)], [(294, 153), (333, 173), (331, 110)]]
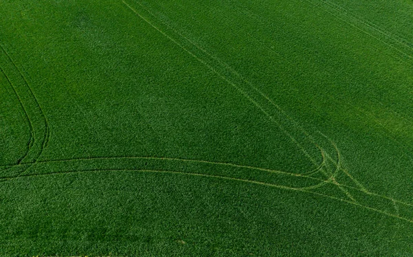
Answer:
[[(96, 166), (99, 166), (99, 164), (96, 164), (96, 160), (100, 160), (100, 161), (105, 161), (105, 163), (101, 163), (101, 166), (105, 166), (106, 168), (95, 168)], [(125, 167), (121, 167), (121, 168), (115, 168), (115, 167), (119, 167), (119, 166), (130, 166), (129, 161), (131, 160), (138, 160), (141, 162), (142, 164), (142, 168), (125, 168)], [(160, 161), (160, 166), (162, 166), (162, 168), (151, 168), (152, 164), (148, 164), (148, 161)], [(91, 161), (91, 163), (89, 165), (85, 165), (85, 161)], [(113, 161), (112, 163), (112, 167), (110, 162)], [(120, 162), (125, 161), (124, 164), (120, 164)], [(68, 163), (72, 162), (72, 164), (75, 165), (68, 165)], [(77, 165), (76, 165), (76, 162)], [(169, 170), (168, 169), (168, 165), (167, 162), (184, 162), (187, 164), (207, 164), (207, 165), (214, 165), (214, 166), (224, 166), (224, 170), (222, 170), (222, 174), (220, 174), (218, 172), (217, 174), (217, 168), (213, 169), (213, 173), (209, 173), (208, 171), (204, 171), (204, 172), (191, 172), (191, 171), (187, 171), (187, 169), (189, 168), (189, 166), (183, 166), (181, 167), (181, 170)], [(65, 167), (66, 170), (60, 170), (58, 172), (56, 172), (54, 167), (46, 167), (43, 166), (44, 170), (42, 170), (42, 165), (41, 164), (52, 164), (52, 163), (61, 163), (62, 166), (61, 167)], [(134, 165), (132, 166), (138, 166), (138, 163), (134, 163)], [(337, 183), (335, 183), (334, 181), (324, 181), (322, 179), (317, 179), (315, 177), (308, 177), (306, 175), (299, 175), (296, 173), (288, 173), (288, 172), (281, 172), (281, 171), (277, 171), (277, 170), (267, 170), (267, 169), (261, 169), (261, 168), (255, 168), (255, 167), (250, 167), (250, 166), (240, 166), (240, 165), (236, 165), (236, 164), (226, 164), (226, 163), (215, 163), (215, 162), (211, 162), (211, 161), (200, 161), (200, 160), (193, 160), (193, 159), (176, 159), (176, 158), (161, 158), (161, 157), (101, 157), (101, 158), (85, 158), (85, 159), (67, 159), (67, 160), (54, 160), (54, 161), (41, 161), (38, 162), (37, 164), (35, 164), (35, 166), (39, 166), (36, 167), (36, 173), (30, 173), (27, 172), (24, 175), (21, 175), (21, 177), (14, 177), (11, 179), (25, 179), (25, 178), (30, 178), (30, 177), (43, 177), (43, 176), (50, 176), (50, 175), (67, 175), (67, 174), (74, 174), (74, 173), (84, 173), (84, 172), (120, 172), (120, 171), (129, 171), (129, 172), (156, 172), (156, 173), (163, 173), (163, 174), (175, 174), (175, 175), (188, 175), (188, 176), (196, 176), (196, 177), (205, 177), (205, 178), (209, 178), (209, 179), (224, 179), (227, 181), (237, 181), (237, 182), (242, 182), (242, 183), (251, 183), (251, 184), (255, 184), (255, 185), (260, 185), (260, 186), (269, 186), (272, 188), (279, 188), (282, 190), (292, 190), (292, 191), (297, 191), (297, 192), (303, 192), (306, 194), (313, 194), (315, 196), (319, 196), (319, 197), (326, 197), (328, 199), (333, 199), (336, 201), (340, 201), (342, 203), (347, 203), (350, 205), (354, 205), (357, 206), (359, 208), (363, 208), (363, 209), (367, 209), (367, 210), (371, 210), (374, 212), (378, 212), (381, 214), (384, 214), (386, 216), (391, 216), (394, 217), (396, 219), (402, 220), (402, 221), (407, 221), (409, 223), (413, 223), (412, 220), (412, 214), (413, 214), (413, 204), (410, 203), (405, 203), (403, 201), (399, 201), (396, 199), (392, 199), (390, 197), (385, 197), (381, 194), (375, 194), (372, 192), (368, 192), (365, 191), (363, 189), (357, 188), (357, 187), (353, 187), (353, 186), (346, 186), (346, 185), (340, 185), (343, 188), (346, 188), (347, 190), (351, 190), (352, 193), (354, 195), (357, 195), (360, 199), (362, 199), (363, 197), (367, 197), (368, 201), (366, 202), (359, 202), (359, 201), (352, 201), (347, 199), (346, 197), (341, 197), (341, 196), (337, 196), (337, 194), (330, 194), (330, 192), (317, 192), (317, 191), (313, 191), (313, 190), (308, 190), (306, 188), (297, 188), (297, 187), (293, 187), (293, 186), (286, 186), (286, 185), (281, 185), (281, 184), (277, 184), (277, 183), (271, 183), (271, 182), (267, 182), (264, 179), (263, 180), (254, 180), (254, 179), (248, 179), (248, 178), (243, 178), (243, 177), (229, 177), (228, 174), (228, 168), (245, 168), (245, 169), (257, 169), (260, 171), (265, 171), (268, 173), (273, 174), (279, 174), (282, 176), (290, 176), (293, 177), (295, 179), (297, 178), (302, 178), (302, 179), (309, 179), (309, 180), (314, 180), (314, 181), (319, 181), (321, 183), (325, 183), (327, 185), (330, 186), (337, 186)], [(76, 167), (78, 166), (78, 167)], [(80, 166), (82, 166), (83, 168), (81, 169), (76, 169), (79, 168)], [(73, 170), (71, 170), (71, 168), (74, 168)], [(93, 168), (92, 168), (93, 167)], [(109, 167), (109, 168), (108, 168)], [(149, 167), (149, 168), (148, 168)], [(166, 167), (166, 168), (165, 168)], [(197, 170), (200, 170), (199, 166), (195, 167)], [(205, 166), (203, 168), (203, 170), (208, 170), (208, 167)], [(40, 171), (40, 172), (39, 172)], [(371, 201), (377, 201), (377, 199), (381, 199), (381, 201), (386, 202), (385, 204), (388, 204), (389, 206), (392, 206), (392, 208), (394, 208), (394, 210), (389, 210), (386, 208), (383, 208), (381, 205), (374, 205), (371, 204)], [(370, 203), (370, 204), (369, 204)], [(401, 213), (400, 209), (404, 209), (404, 212)], [(383, 210), (384, 209), (384, 210)]]

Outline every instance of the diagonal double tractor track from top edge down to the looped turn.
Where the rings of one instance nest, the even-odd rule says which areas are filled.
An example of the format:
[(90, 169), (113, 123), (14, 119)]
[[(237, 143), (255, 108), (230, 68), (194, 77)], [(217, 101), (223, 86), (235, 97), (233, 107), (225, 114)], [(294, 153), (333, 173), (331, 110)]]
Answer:
[[(164, 24), (165, 29), (161, 30), (160, 25), (154, 25), (153, 21), (151, 21), (150, 19), (156, 19), (157, 17), (142, 4), (137, 3), (140, 8), (142, 8), (149, 14), (149, 17), (142, 16), (142, 14), (140, 14), (136, 9), (132, 8), (131, 5), (129, 5), (125, 1), (123, 1), (123, 3), (127, 5), (127, 8), (131, 9), (135, 14), (137, 14), (140, 19), (143, 19), (146, 23), (151, 25), (151, 27), (158, 30), (158, 32), (169, 38), (169, 40), (173, 41), (173, 43), (175, 43), (176, 45), (184, 49), (184, 51), (186, 51), (188, 54), (200, 61), (200, 63), (203, 63), (205, 66), (209, 67), (211, 71), (228, 82), (229, 85), (235, 87), (238, 91), (240, 91), (242, 95), (244, 95), (248, 100), (255, 104), (255, 106), (267, 116), (268, 120), (274, 122), (279, 127), (279, 129), (282, 130), (283, 133), (290, 137), (292, 142), (297, 145), (297, 147), (304, 153), (304, 155), (306, 155), (306, 157), (308, 157), (308, 159), (310, 159), (313, 164), (316, 164), (316, 161), (315, 157), (311, 156), (309, 153), (310, 150), (308, 149), (310, 147), (318, 148), (321, 151), (323, 158), (327, 157), (328, 159), (332, 160), (330, 154), (328, 154), (325, 150), (323, 150), (323, 148), (321, 148), (321, 146), (319, 146), (319, 144), (317, 144), (317, 141), (319, 140), (315, 140), (314, 137), (309, 135), (301, 126), (299, 126), (299, 124), (297, 124), (297, 122), (293, 120), (293, 118), (288, 115), (288, 113), (282, 110), (277, 104), (275, 104), (275, 102), (273, 102), (273, 100), (268, 98), (268, 96), (262, 93), (262, 91), (257, 89), (257, 87), (255, 87), (251, 82), (246, 80), (246, 78), (235, 71), (235, 69), (224, 63), (219, 58), (213, 56), (212, 54), (207, 52), (207, 50), (203, 49), (177, 30), (174, 30), (169, 25)], [(172, 37), (165, 31), (171, 32), (171, 34), (174, 34), (175, 37)], [(335, 144), (332, 143), (331, 140), (329, 140), (329, 144), (335, 146)], [(337, 152), (337, 155), (339, 155), (337, 146), (335, 146), (335, 152)], [(334, 171), (330, 171), (330, 169), (328, 169), (327, 167), (325, 167), (325, 170), (321, 168), (319, 169), (319, 171), (321, 171), (327, 177), (327, 179), (335, 181), (335, 177), (340, 171), (339, 166), (340, 161), (338, 160), (337, 164), (335, 164), (335, 168), (333, 168)], [(337, 183), (337, 185), (339, 184)], [(351, 200), (354, 200), (350, 193), (348, 193), (344, 188), (342, 188), (341, 186), (339, 186), (339, 188), (343, 192), (345, 192)]]

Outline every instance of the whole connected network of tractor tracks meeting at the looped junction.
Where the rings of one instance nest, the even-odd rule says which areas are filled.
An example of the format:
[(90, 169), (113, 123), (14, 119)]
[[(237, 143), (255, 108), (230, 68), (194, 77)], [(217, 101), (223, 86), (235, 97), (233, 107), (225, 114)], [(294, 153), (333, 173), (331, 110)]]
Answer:
[[(28, 144), (28, 153), (21, 158), (18, 164), (13, 166), (0, 166), (0, 168), (10, 169), (21, 168), (22, 171), (17, 175), (3, 175), (0, 177), (1, 181), (12, 181), (14, 179), (28, 177), (65, 175), (69, 173), (109, 171), (158, 172), (174, 175), (190, 175), (209, 179), (225, 179), (234, 182), (252, 183), (260, 186), (294, 190), (319, 197), (327, 197), (413, 223), (413, 204), (367, 190), (343, 167), (339, 148), (337, 148), (331, 139), (320, 132), (317, 132), (317, 135), (310, 135), (303, 127), (297, 124), (288, 113), (235, 71), (235, 69), (167, 24), (156, 25), (157, 17), (145, 8), (144, 5), (137, 3), (140, 9), (146, 12), (146, 14), (141, 14), (125, 1), (122, 2), (140, 19), (148, 23), (148, 25), (160, 32), (163, 36), (169, 38), (170, 41), (178, 45), (200, 63), (211, 69), (211, 71), (222, 78), (222, 80), (240, 91), (244, 97), (266, 115), (268, 120), (276, 124), (279, 129), (291, 139), (291, 142), (301, 150), (315, 168), (299, 174), (224, 162), (170, 157), (92, 157), (39, 161), (43, 149), (47, 146), (49, 137), (47, 119), (27, 80), (13, 62), (12, 58), (10, 58), (10, 55), (3, 46), (0, 45), (3, 53), (8, 57), (9, 63), (14, 67), (14, 71), (18, 71), (19, 78), (21, 82), (23, 82), (24, 87), (16, 87), (14, 84), (17, 82), (8, 78), (25, 112), (25, 116), (30, 124), (30, 134), (32, 135), (30, 144)], [(1, 69), (1, 71), (6, 76), (3, 69)], [(21, 88), (25, 88), (25, 90), (28, 91), (28, 95), (25, 95), (26, 97), (24, 99), (21, 99), (23, 98), (21, 96), (21, 93), (23, 93)], [(28, 99), (31, 100), (32, 104), (25, 102), (25, 100)], [(28, 111), (29, 109), (35, 109), (38, 115), (32, 115), (36, 113), (36, 111), (30, 113), (30, 111)], [(38, 125), (38, 122), (34, 122), (35, 118), (43, 120), (43, 125), (39, 126), (42, 129), (34, 129), (35, 123)], [(37, 138), (39, 130), (43, 131), (43, 139)], [(33, 150), (35, 144), (38, 145), (39, 149)], [(315, 156), (318, 154), (321, 155), (321, 158)], [(317, 161), (318, 159), (321, 159), (321, 163)], [(199, 170), (202, 170), (202, 172), (199, 172)], [(348, 178), (349, 182), (347, 183), (351, 183), (353, 186), (347, 183), (341, 183), (341, 181), (339, 181), (339, 175)], [(322, 192), (319, 192), (320, 188), (323, 190)]]

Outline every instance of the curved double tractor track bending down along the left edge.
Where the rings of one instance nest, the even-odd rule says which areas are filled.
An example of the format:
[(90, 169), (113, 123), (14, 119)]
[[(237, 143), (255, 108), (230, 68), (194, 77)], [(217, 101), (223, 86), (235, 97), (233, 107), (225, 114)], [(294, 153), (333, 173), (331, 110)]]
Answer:
[[(19, 101), (19, 105), (27, 120), (30, 131), (30, 139), (27, 144), (25, 153), (17, 161), (17, 165), (4, 166), (0, 170), (1, 174), (23, 174), (29, 166), (23, 164), (34, 164), (41, 156), (44, 148), (47, 146), (49, 138), (49, 124), (43, 113), (43, 109), (39, 104), (36, 96), (33, 93), (30, 84), (25, 76), (21, 73), (10, 54), (5, 47), (0, 44), (1, 52), (5, 56), (5, 62), (2, 62), (3, 67), (0, 67), (1, 73), (6, 76), (14, 95)], [(0, 65), (1, 66), (1, 65)]]

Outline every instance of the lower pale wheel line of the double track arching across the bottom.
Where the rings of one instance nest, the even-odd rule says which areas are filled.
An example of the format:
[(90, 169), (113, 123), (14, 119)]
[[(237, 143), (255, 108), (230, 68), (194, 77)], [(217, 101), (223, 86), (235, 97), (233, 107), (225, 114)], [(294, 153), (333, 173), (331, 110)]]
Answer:
[[(291, 191), (296, 191), (296, 192), (304, 192), (304, 193), (308, 193), (308, 194), (314, 194), (317, 195), (319, 197), (326, 197), (329, 199), (334, 199), (336, 201), (340, 201), (342, 203), (348, 203), (350, 205), (354, 205), (357, 206), (359, 208), (364, 208), (366, 210), (372, 210), (374, 212), (378, 212), (380, 214), (386, 215), (386, 216), (391, 216), (393, 218), (396, 219), (400, 219), (402, 221), (407, 221), (408, 223), (413, 223), (412, 219), (407, 219), (403, 216), (398, 216), (396, 214), (392, 214), (392, 213), (388, 213), (388, 212), (384, 212), (383, 210), (379, 210), (376, 208), (371, 208), (369, 206), (366, 205), (361, 205), (360, 203), (356, 203), (354, 201), (348, 201), (346, 199), (341, 199), (338, 197), (332, 197), (328, 194), (321, 194), (319, 192), (312, 192), (312, 191), (308, 191), (308, 190), (302, 190), (300, 188), (290, 188), (288, 186), (281, 186), (281, 185), (276, 185), (276, 184), (272, 184), (272, 183), (265, 183), (265, 182), (260, 182), (260, 181), (253, 181), (253, 180), (248, 180), (248, 179), (237, 179), (237, 178), (233, 178), (233, 177), (224, 177), (224, 176), (218, 176), (218, 175), (206, 175), (206, 174), (202, 174), (202, 173), (191, 173), (191, 172), (180, 172), (180, 171), (172, 171), (172, 170), (135, 170), (135, 169), (109, 169), (109, 170), (74, 170), (71, 172), (54, 172), (54, 173), (48, 173), (45, 175), (67, 175), (67, 174), (71, 174), (71, 173), (86, 173), (86, 172), (111, 172), (111, 171), (136, 171), (136, 172), (153, 172), (153, 173), (165, 173), (165, 174), (176, 174), (176, 175), (187, 175), (187, 176), (195, 176), (195, 177), (207, 177), (207, 178), (211, 178), (211, 179), (225, 179), (225, 180), (229, 180), (229, 181), (238, 181), (238, 182), (244, 182), (244, 183), (252, 183), (252, 184), (256, 184), (256, 185), (260, 185), (260, 186), (268, 186), (271, 188), (279, 188), (279, 189), (283, 189), (283, 190), (291, 190)], [(44, 176), (44, 175), (36, 175), (38, 177)], [(26, 175), (23, 175), (21, 177), (19, 177), (19, 179), (22, 179), (24, 177), (28, 177)], [(31, 176), (33, 177), (33, 176)]]

